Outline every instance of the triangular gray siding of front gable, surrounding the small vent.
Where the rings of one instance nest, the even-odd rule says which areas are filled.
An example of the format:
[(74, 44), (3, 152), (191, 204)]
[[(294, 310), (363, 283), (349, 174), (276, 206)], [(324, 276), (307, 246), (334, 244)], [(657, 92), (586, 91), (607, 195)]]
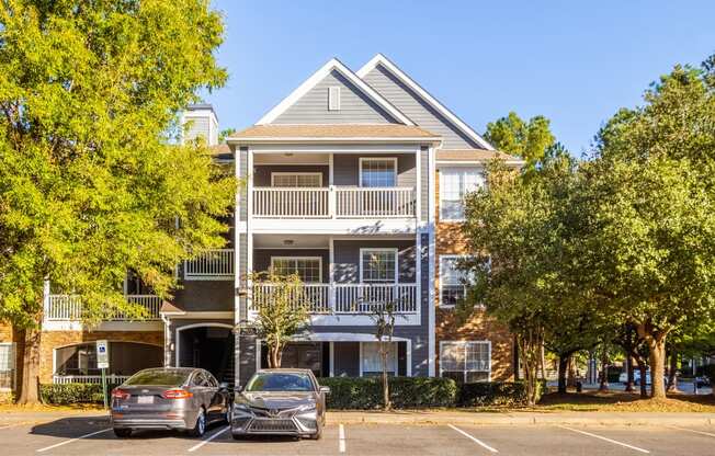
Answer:
[[(340, 87), (340, 110), (328, 111), (328, 88)], [(274, 124), (389, 124), (396, 121), (340, 72), (332, 71)]]

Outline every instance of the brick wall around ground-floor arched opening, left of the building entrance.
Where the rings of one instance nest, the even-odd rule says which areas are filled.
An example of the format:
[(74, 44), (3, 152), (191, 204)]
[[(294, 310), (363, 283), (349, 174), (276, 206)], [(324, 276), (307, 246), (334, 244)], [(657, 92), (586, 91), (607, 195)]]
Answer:
[(141, 342), (163, 346), (163, 331), (45, 331), (42, 334), (39, 350), (39, 383), (52, 383), (54, 349), (101, 339), (112, 342)]

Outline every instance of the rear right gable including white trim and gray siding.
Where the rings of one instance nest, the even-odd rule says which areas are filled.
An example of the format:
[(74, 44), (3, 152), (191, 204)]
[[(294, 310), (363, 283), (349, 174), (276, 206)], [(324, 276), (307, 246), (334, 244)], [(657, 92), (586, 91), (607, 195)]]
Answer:
[[(431, 132), (443, 134), (445, 146), (478, 147), (493, 150), (493, 147), (487, 140), (384, 55), (377, 54), (358, 70), (356, 75), (377, 89), (381, 94), (409, 115), (418, 125)], [(390, 96), (385, 84), (399, 86), (402, 91), (410, 94), (412, 100), (397, 96), (394, 92), (394, 96)]]

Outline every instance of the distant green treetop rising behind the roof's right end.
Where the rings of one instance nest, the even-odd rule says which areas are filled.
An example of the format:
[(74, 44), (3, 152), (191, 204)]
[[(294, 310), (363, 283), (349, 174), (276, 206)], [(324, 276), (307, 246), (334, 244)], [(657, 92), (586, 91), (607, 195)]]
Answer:
[[(524, 159), (525, 169), (533, 170), (556, 145), (548, 118), (537, 115), (524, 122), (513, 111), (487, 124), (485, 139), (497, 149)], [(559, 149), (563, 146), (559, 145)]]

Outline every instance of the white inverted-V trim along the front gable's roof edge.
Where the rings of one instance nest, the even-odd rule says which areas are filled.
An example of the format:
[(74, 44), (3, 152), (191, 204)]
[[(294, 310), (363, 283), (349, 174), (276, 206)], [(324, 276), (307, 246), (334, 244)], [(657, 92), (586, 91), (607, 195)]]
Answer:
[(352, 70), (345, 67), (337, 58), (330, 59), (326, 65), (324, 65), (318, 71), (314, 72), (308, 79), (306, 79), (297, 89), (295, 89), (288, 96), (283, 99), (281, 103), (275, 105), (271, 111), (269, 111), (256, 125), (265, 125), (275, 121), (282, 113), (284, 113), (288, 107), (291, 107), (295, 102), (297, 102), (303, 95), (308, 93), (310, 89), (316, 87), (318, 82), (325, 79), (331, 71), (338, 71), (345, 79), (348, 79), (352, 84), (354, 84), (358, 90), (364, 93), (367, 98), (374, 101), (377, 105), (385, 110), (390, 116), (396, 121), (401, 122), (405, 125), (415, 125), (405, 114), (402, 114), (397, 107), (395, 107), (390, 102), (388, 102), (383, 95), (377, 93), (375, 89), (370, 87), (365, 81), (358, 77)]

